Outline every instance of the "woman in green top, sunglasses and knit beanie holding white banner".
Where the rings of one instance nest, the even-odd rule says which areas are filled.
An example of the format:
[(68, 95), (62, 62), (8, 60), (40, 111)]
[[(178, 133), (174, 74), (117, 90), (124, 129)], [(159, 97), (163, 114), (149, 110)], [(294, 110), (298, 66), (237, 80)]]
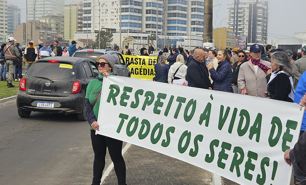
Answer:
[[(95, 131), (99, 130), (97, 120), (103, 78), (105, 76), (114, 75), (112, 70), (115, 63), (116, 57), (114, 55), (104, 54), (99, 57), (98, 62), (96, 62), (99, 75), (89, 82), (85, 96), (86, 116), (88, 118), (88, 123), (90, 124), (91, 143), (95, 153), (93, 179), (91, 185), (99, 185), (101, 183), (102, 173), (105, 167), (106, 147), (108, 148), (110, 157), (114, 163), (114, 169), (118, 178), (118, 185), (126, 185), (125, 162), (121, 154), (122, 141), (106, 137), (104, 135), (95, 134)], [(112, 120), (110, 117), (105, 117), (104, 119), (109, 121)]]

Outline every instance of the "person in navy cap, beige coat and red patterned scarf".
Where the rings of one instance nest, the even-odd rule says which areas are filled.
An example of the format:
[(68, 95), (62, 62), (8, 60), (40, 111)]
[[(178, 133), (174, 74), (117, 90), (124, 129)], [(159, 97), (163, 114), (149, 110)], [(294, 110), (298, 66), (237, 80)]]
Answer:
[(238, 86), (241, 94), (267, 98), (267, 71), (271, 68), (270, 62), (260, 59), (261, 46), (253, 44), (250, 47), (251, 60), (241, 64), (238, 74)]

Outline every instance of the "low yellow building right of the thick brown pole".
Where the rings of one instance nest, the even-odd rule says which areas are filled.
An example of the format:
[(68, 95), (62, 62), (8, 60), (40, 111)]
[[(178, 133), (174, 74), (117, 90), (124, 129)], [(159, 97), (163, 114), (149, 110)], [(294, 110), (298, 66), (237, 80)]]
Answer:
[(216, 28), (212, 31), (215, 46), (219, 49), (234, 48), (235, 33), (231, 28)]

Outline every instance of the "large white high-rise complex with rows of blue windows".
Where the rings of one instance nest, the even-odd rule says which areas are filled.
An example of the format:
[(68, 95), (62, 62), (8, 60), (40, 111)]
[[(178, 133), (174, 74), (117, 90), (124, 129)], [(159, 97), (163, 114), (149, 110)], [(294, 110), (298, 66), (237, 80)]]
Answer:
[(156, 31), (158, 48), (174, 44), (188, 46), (189, 50), (203, 44), (203, 38), (198, 38), (203, 35), (203, 1), (111, 0), (100, 3), (98, 6), (98, 0), (83, 1), (83, 29), (75, 32), (75, 39), (88, 37), (95, 40), (100, 23), (101, 29), (117, 30), (113, 33), (116, 44), (120, 40), (121, 26), (121, 41), (126, 36), (134, 37), (137, 43), (133, 47), (136, 49), (147, 45), (148, 35), (156, 35)]

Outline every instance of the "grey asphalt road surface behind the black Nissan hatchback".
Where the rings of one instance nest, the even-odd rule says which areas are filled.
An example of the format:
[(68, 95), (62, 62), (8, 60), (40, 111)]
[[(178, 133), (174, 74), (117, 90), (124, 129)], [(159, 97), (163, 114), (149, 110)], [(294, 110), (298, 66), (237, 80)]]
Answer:
[(93, 157), (87, 121), (36, 112), (21, 118), (15, 100), (0, 103), (0, 184), (88, 185)]

